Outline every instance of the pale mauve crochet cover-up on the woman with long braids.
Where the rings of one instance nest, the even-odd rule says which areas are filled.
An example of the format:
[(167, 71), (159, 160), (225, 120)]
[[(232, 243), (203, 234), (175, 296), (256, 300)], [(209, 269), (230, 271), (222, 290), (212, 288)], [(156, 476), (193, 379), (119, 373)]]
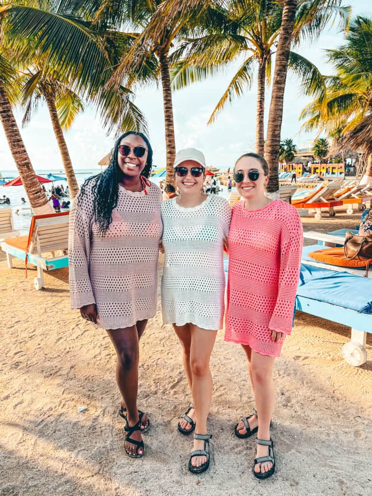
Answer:
[(161, 192), (153, 183), (146, 190), (147, 195), (119, 186), (118, 205), (104, 237), (93, 219), (91, 184), (70, 211), (71, 308), (95, 303), (105, 329), (129, 327), (156, 313)]

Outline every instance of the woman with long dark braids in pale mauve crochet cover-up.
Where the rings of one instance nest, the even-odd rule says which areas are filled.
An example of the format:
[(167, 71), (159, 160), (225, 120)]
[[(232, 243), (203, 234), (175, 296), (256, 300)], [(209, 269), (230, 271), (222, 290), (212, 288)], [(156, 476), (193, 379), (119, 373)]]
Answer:
[(109, 167), (85, 181), (70, 211), (71, 307), (107, 330), (117, 353), (116, 380), (126, 422), (125, 452), (140, 458), (141, 433), (150, 427), (137, 410), (138, 341), (156, 313), (157, 263), (162, 234), (161, 193), (147, 178), (152, 148), (126, 132)]

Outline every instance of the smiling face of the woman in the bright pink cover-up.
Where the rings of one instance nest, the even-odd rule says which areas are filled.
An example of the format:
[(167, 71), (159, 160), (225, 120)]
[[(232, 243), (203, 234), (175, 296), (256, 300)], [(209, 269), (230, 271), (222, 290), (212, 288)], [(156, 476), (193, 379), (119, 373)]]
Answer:
[[(249, 171), (258, 171), (259, 177), (256, 181), (248, 178)], [(264, 196), (265, 186), (269, 182), (269, 176), (265, 176), (262, 164), (254, 157), (242, 157), (235, 166), (235, 173), (242, 172), (244, 179), (241, 183), (236, 183), (237, 190), (242, 198), (253, 199)]]

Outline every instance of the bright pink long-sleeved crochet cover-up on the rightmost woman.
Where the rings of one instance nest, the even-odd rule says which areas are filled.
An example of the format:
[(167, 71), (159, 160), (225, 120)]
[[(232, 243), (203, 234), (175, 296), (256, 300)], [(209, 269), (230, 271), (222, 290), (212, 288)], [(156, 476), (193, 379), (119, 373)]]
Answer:
[(274, 200), (259, 210), (233, 206), (229, 230), (225, 341), (278, 357), (289, 335), (299, 283), (302, 224), (295, 207)]

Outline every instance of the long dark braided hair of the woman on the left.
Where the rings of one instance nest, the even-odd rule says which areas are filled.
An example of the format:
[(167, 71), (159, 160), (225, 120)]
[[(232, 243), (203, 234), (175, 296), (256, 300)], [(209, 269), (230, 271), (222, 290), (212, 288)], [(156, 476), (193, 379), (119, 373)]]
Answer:
[(92, 193), (94, 198), (94, 222), (98, 224), (102, 236), (105, 235), (113, 220), (113, 209), (118, 205), (119, 181), (121, 178), (121, 171), (118, 164), (119, 145), (122, 139), (129, 134), (140, 136), (146, 143), (148, 149), (147, 162), (141, 172), (141, 175), (145, 176), (146, 178), (150, 176), (152, 167), (152, 148), (150, 142), (148, 138), (141, 132), (128, 131), (119, 136), (119, 138), (117, 139), (114, 149), (112, 150), (110, 155), (110, 165), (108, 166), (108, 168), (104, 172), (88, 178), (86, 181), (84, 181), (84, 184), (81, 186), (80, 189), (78, 202), (86, 194), (86, 187), (89, 184), (92, 184)]

